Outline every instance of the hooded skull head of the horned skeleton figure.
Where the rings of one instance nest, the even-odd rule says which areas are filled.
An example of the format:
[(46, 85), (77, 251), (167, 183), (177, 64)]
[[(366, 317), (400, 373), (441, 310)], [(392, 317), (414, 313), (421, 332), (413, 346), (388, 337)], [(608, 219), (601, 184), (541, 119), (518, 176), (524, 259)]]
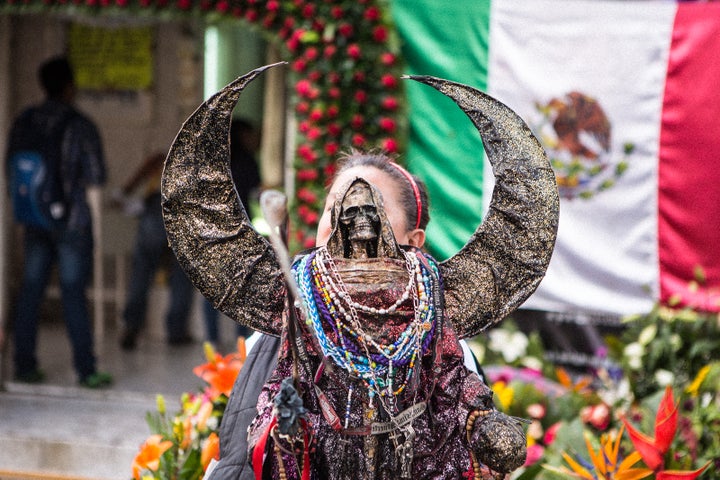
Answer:
[(358, 182), (348, 189), (342, 200), (338, 220), (342, 237), (346, 241), (346, 257), (367, 258), (377, 255), (380, 216), (367, 183)]

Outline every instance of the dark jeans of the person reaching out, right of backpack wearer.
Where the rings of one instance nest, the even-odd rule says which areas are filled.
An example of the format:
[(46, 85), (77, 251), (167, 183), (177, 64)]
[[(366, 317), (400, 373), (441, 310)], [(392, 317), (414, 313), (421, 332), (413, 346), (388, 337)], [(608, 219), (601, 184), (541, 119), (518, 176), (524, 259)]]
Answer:
[(129, 330), (137, 332), (142, 328), (150, 287), (155, 273), (164, 261), (170, 285), (166, 331), (168, 341), (174, 341), (188, 336), (188, 318), (195, 290), (168, 246), (161, 212), (158, 194), (148, 200), (145, 212), (140, 217), (124, 318), (125, 326)]

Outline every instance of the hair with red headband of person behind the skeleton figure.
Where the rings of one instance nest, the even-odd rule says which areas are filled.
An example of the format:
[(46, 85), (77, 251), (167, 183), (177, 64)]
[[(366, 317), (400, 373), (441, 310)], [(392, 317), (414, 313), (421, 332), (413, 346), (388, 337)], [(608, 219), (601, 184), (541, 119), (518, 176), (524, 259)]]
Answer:
[[(403, 173), (402, 167), (395, 163), (395, 159), (384, 152), (361, 152), (350, 150), (338, 159), (338, 168), (334, 177), (337, 178), (342, 172), (354, 167), (373, 167), (388, 174), (396, 184), (400, 186), (400, 202), (405, 211), (405, 220), (408, 229), (417, 225), (417, 228), (425, 230), (430, 222), (430, 201), (427, 195), (425, 183), (416, 175), (408, 173), (412, 177), (417, 193), (420, 198), (420, 219), (418, 220), (418, 202), (415, 195), (415, 186)], [(401, 170), (402, 169), (402, 170)], [(406, 171), (407, 173), (407, 171)]]

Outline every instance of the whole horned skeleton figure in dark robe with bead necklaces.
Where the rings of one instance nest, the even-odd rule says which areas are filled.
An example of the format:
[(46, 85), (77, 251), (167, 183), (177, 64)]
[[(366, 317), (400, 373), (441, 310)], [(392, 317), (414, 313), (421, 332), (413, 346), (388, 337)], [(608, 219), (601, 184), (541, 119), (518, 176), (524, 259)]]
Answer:
[[(288, 306), (272, 248), (234, 199), (222, 142), (240, 92), (265, 68), (188, 119), (163, 177), (168, 236), (189, 277), (231, 318), (284, 339), (249, 431), (256, 474), (503, 478), (524, 461), (524, 434), (464, 367), (458, 338), (500, 321), (545, 273), (558, 196), (542, 148), (496, 100), (413, 77), (455, 100), (482, 133), (497, 185), (489, 214), (458, 254), (438, 263), (399, 246), (379, 192), (354, 179), (335, 202), (327, 246), (294, 263), (303, 308)], [(273, 416), (289, 377), (307, 410), (296, 435), (278, 432)]]

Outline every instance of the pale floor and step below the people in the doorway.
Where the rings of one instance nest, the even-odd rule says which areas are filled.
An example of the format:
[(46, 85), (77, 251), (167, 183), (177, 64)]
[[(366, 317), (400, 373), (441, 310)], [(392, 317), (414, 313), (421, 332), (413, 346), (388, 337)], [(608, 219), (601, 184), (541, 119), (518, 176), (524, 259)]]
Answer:
[(115, 380), (102, 391), (77, 386), (63, 324), (41, 328), (39, 360), (47, 375), (43, 384), (8, 381), (12, 357), (11, 348), (5, 349), (0, 480), (35, 475), (131, 477), (132, 459), (150, 434), (145, 414), (155, 410), (156, 395), (165, 396), (168, 411), (179, 409), (181, 393), (202, 387), (192, 368), (205, 360), (200, 340), (170, 347), (160, 340), (143, 339), (137, 350), (124, 352), (117, 339), (118, 332), (109, 328), (96, 348), (100, 369), (112, 373)]

